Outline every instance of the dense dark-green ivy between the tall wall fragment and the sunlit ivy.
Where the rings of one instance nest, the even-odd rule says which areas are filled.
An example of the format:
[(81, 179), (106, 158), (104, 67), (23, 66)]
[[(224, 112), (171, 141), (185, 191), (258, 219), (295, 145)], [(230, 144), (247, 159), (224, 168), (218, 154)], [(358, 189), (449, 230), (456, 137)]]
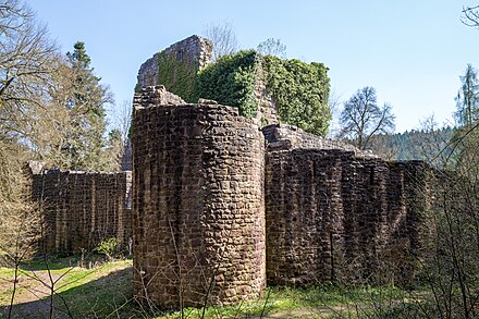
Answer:
[(237, 107), (244, 116), (256, 116), (258, 61), (259, 54), (253, 50), (222, 57), (199, 72), (197, 96)]

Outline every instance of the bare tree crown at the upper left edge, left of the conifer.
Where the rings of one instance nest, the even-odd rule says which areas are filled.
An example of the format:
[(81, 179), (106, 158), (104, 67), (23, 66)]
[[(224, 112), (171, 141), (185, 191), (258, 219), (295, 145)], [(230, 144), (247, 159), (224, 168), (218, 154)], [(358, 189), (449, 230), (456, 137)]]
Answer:
[(46, 88), (58, 65), (56, 45), (45, 26), (16, 0), (0, 4), (0, 134), (33, 135)]

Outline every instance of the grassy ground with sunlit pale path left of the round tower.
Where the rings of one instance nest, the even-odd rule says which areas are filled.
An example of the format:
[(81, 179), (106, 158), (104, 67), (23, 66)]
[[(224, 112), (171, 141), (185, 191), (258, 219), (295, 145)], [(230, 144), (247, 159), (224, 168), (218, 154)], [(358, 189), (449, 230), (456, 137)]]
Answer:
[[(48, 298), (49, 289), (42, 284), (44, 282), (51, 286), (47, 269), (50, 269), (52, 280), (56, 282), (53, 285), (56, 308), (60, 311), (70, 311), (74, 318), (83, 318), (91, 314), (106, 317), (123, 305), (130, 308), (134, 306), (131, 302), (133, 297), (131, 259), (97, 265), (90, 269), (77, 267), (77, 260), (75, 256), (52, 258), (48, 261), (48, 268), (42, 260), (23, 263), (19, 271), (14, 314), (22, 317), (24, 312), (28, 314), (29, 306), (40, 304), (38, 299)], [(0, 268), (0, 318), (2, 318), (1, 308), (5, 309), (10, 304), (13, 278), (14, 269)], [(123, 308), (126, 309), (126, 306)]]

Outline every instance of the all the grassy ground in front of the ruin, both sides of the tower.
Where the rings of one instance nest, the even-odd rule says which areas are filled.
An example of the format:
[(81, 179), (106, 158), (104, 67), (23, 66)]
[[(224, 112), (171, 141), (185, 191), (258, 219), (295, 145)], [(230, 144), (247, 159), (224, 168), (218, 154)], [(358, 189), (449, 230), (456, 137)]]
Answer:
[[(102, 263), (90, 269), (76, 267), (77, 257), (56, 258), (49, 261), (57, 295), (56, 307), (74, 318), (97, 316), (100, 318), (182, 318), (176, 312), (152, 312), (142, 308), (133, 299), (132, 260)], [(33, 273), (49, 281), (45, 262), (22, 265), (14, 311), (22, 315), (28, 304), (38, 299), (28, 295), (40, 286)], [(10, 303), (14, 269), (0, 268), (1, 307)], [(47, 292), (48, 293), (48, 292)], [(42, 298), (47, 298), (48, 294)], [(322, 284), (309, 289), (269, 287), (263, 297), (233, 306), (210, 306), (206, 318), (408, 318), (417, 315), (417, 299), (403, 290), (392, 286), (341, 287)], [(186, 308), (186, 318), (200, 318), (202, 309)]]

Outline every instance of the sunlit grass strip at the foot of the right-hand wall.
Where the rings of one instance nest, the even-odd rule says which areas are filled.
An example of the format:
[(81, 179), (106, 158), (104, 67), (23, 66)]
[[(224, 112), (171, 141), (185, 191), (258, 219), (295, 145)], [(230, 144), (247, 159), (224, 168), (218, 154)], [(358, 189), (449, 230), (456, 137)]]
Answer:
[[(410, 296), (397, 287), (339, 287), (331, 284), (309, 289), (269, 287), (258, 300), (234, 306), (210, 306), (206, 318), (409, 318), (417, 314)], [(201, 309), (186, 308), (188, 318), (200, 318)], [(400, 317), (402, 316), (402, 317)], [(179, 311), (157, 318), (181, 318)]]

